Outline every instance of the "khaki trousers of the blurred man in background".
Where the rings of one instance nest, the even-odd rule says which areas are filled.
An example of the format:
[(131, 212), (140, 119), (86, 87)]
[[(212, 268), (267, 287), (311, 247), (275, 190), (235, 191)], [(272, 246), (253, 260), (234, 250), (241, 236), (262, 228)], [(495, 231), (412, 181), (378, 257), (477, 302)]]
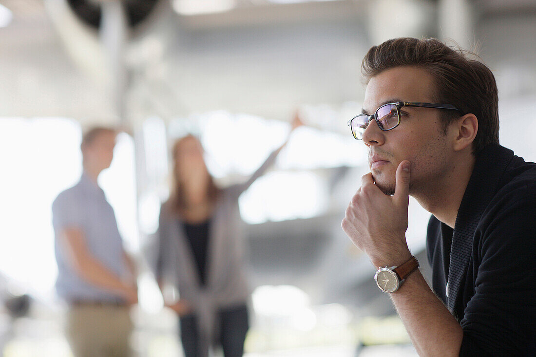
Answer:
[(132, 322), (128, 307), (72, 306), (66, 337), (76, 357), (128, 357)]

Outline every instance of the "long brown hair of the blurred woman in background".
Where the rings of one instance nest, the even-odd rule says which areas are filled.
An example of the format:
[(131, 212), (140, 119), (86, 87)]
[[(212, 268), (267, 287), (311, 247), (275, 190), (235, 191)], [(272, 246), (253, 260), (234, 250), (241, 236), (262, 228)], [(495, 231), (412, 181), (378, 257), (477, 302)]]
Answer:
[[(181, 149), (181, 145), (185, 140), (195, 139), (199, 142), (199, 139), (193, 135), (184, 136), (175, 141), (172, 148), (172, 157), (173, 157), (173, 173), (172, 173), (172, 190), (169, 195), (168, 202), (166, 204), (166, 209), (168, 214), (177, 214), (186, 207), (184, 201), (184, 187), (181, 185), (180, 177), (178, 174), (177, 159), (178, 152)], [(199, 143), (200, 145), (200, 143)], [(208, 170), (207, 170), (208, 172)], [(211, 202), (214, 202), (219, 194), (219, 189), (214, 183), (214, 177), (209, 173), (209, 183), (207, 184), (207, 191), (209, 193), (209, 199)]]

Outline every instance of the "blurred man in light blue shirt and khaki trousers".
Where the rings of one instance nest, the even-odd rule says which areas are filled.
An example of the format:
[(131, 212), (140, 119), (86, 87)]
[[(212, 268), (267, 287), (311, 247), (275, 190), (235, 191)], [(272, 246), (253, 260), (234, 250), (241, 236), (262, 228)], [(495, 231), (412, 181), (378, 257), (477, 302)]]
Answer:
[(103, 127), (85, 133), (80, 181), (52, 206), (56, 289), (69, 305), (66, 335), (77, 357), (129, 355), (129, 312), (138, 301), (136, 269), (97, 183), (113, 159), (116, 136)]

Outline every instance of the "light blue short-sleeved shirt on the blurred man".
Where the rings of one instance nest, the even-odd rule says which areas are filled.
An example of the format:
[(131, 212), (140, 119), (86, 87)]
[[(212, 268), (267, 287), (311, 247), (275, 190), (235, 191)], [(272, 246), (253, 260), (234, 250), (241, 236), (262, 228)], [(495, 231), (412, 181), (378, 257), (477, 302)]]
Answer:
[(58, 264), (56, 291), (66, 301), (121, 301), (116, 293), (82, 279), (73, 270), (60, 234), (65, 228), (78, 228), (84, 233), (90, 254), (110, 271), (122, 277), (126, 272), (123, 244), (117, 229), (114, 210), (104, 191), (86, 173), (80, 181), (56, 197), (52, 204), (55, 253)]

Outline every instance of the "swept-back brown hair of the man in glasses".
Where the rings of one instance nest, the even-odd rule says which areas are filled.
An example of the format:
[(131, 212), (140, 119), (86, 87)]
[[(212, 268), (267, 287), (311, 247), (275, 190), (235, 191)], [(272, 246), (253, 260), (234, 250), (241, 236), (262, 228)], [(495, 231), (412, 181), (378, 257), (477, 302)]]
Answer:
[(469, 58), (470, 55), (474, 54), (451, 48), (437, 39), (392, 39), (369, 49), (361, 72), (368, 83), (378, 73), (398, 66), (427, 70), (435, 79), (434, 100), (451, 104), (461, 112), (443, 111), (445, 133), (449, 123), (460, 114), (477, 117), (478, 132), (473, 142), (476, 154), (488, 144), (499, 143), (498, 94), (492, 71), (478, 59)]

